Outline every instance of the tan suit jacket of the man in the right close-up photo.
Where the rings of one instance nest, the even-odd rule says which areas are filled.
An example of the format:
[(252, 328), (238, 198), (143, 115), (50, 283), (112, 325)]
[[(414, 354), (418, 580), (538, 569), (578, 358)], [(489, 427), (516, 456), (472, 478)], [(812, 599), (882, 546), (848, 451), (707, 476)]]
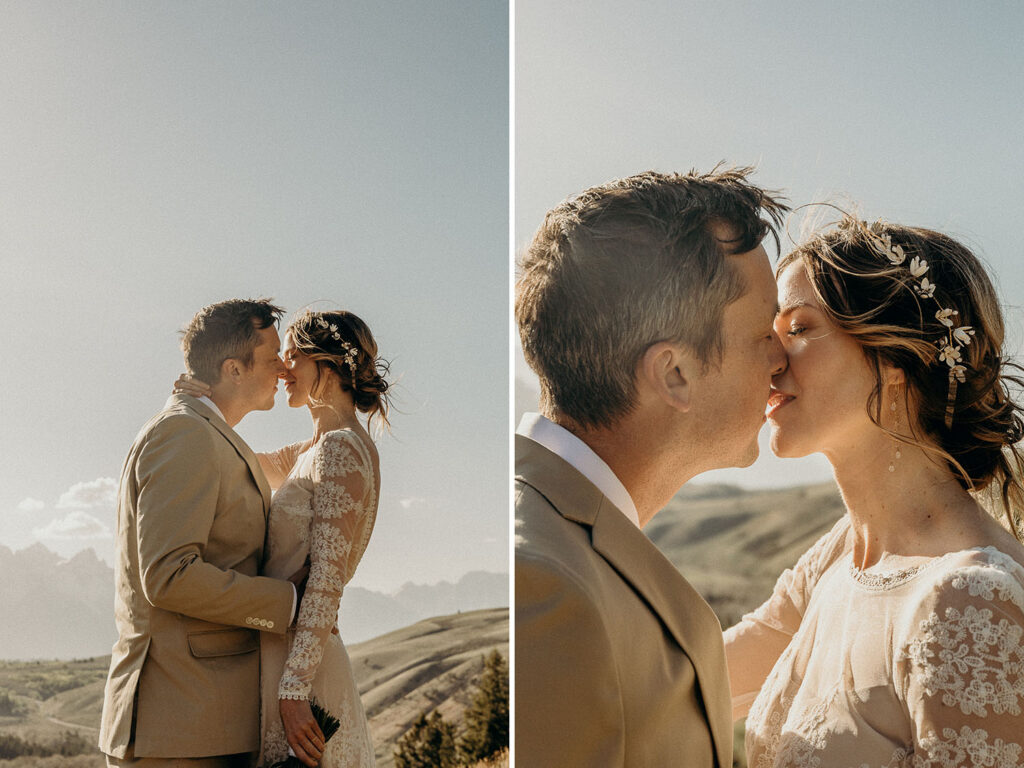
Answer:
[(568, 463), (515, 452), (516, 765), (731, 766), (714, 612)]

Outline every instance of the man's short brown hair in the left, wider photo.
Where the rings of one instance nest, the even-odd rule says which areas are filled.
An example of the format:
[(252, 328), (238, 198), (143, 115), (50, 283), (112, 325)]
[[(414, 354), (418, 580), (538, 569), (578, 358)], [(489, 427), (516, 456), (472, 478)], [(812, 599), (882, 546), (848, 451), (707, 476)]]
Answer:
[(253, 364), (256, 332), (281, 321), (285, 310), (270, 299), (228, 299), (196, 312), (182, 330), (181, 351), (190, 376), (216, 384), (226, 359)]

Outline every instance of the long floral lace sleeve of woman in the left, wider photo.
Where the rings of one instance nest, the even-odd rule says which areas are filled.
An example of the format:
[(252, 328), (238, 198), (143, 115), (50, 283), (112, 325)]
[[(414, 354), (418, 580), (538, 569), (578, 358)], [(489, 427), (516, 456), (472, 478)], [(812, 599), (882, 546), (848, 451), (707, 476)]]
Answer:
[(376, 509), (373, 468), (357, 438), (329, 432), (314, 449), (309, 581), (278, 695), (308, 698), (345, 584), (366, 549)]

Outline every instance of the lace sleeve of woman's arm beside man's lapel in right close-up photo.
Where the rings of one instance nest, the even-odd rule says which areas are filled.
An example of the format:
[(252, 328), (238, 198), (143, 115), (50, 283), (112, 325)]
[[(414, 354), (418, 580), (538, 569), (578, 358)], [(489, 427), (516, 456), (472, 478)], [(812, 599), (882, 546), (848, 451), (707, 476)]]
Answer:
[(844, 515), (796, 565), (782, 571), (767, 600), (725, 631), (733, 720), (750, 711), (768, 673), (800, 629), (818, 579), (845, 551), (849, 528)]

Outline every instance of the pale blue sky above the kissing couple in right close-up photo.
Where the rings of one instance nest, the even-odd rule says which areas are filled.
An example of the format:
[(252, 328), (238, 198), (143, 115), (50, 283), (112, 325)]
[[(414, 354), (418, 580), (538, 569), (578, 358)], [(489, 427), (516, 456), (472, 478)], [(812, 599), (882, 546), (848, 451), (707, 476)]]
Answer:
[[(1019, 347), (1024, 4), (517, 0), (515, 14), (517, 249), (592, 184), (754, 164), (794, 205), (852, 200), (971, 245)], [(698, 481), (830, 476), (821, 457), (767, 453)]]

